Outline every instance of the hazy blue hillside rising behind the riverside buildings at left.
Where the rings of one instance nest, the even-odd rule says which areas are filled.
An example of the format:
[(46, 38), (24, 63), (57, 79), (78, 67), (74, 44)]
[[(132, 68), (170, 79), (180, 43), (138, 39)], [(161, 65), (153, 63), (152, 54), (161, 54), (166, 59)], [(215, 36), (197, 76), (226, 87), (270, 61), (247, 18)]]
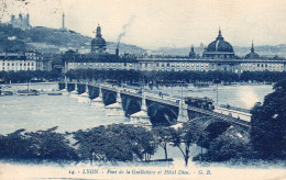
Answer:
[[(16, 52), (25, 49), (37, 49), (43, 53), (61, 53), (67, 49), (78, 49), (88, 53), (91, 37), (84, 36), (74, 31), (62, 31), (35, 26), (22, 31), (13, 29), (9, 24), (0, 24), (0, 49), (4, 52)], [(117, 43), (107, 42), (108, 53), (114, 53)], [(143, 54), (146, 50), (134, 45), (120, 45), (121, 53)]]

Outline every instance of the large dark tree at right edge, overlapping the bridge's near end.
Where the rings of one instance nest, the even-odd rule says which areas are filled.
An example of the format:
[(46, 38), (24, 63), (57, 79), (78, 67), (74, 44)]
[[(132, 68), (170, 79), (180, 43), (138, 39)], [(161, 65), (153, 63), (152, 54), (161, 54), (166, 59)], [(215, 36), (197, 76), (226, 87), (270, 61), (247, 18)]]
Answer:
[(251, 142), (263, 159), (286, 158), (286, 79), (252, 109)]

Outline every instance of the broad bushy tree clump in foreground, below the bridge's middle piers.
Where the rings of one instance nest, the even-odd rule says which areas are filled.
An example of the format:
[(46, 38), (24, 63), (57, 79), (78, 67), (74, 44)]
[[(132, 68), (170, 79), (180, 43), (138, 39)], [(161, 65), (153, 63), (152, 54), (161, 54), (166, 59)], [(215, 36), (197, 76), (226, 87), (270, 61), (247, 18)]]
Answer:
[(144, 127), (112, 124), (74, 133), (77, 150), (82, 159), (130, 161), (136, 156), (148, 160), (156, 144), (153, 134)]

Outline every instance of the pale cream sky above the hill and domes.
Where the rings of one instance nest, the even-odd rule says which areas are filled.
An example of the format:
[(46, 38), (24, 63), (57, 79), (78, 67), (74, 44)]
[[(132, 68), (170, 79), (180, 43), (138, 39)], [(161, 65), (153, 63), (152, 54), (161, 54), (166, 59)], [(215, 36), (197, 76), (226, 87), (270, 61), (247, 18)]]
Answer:
[[(208, 45), (218, 36), (233, 46), (286, 44), (286, 0), (0, 0), (1, 22), (30, 13), (32, 26), (66, 27), (143, 48)], [(124, 32), (124, 33), (123, 33)]]

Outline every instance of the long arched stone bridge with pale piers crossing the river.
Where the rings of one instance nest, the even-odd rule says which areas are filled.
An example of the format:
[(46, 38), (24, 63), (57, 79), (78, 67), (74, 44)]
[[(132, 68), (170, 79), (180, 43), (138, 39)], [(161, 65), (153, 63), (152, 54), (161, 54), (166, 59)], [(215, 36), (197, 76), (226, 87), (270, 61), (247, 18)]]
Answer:
[[(136, 121), (148, 120), (153, 125), (172, 125), (177, 122), (200, 120), (199, 122), (206, 128), (219, 128), (220, 131), (226, 131), (230, 126), (243, 130), (250, 128), (250, 123), (246, 121), (189, 106), (180, 99), (167, 95), (162, 98), (154, 93), (142, 93), (140, 90), (87, 82), (59, 82), (59, 89), (66, 89), (68, 92), (76, 89), (79, 97), (84, 92), (88, 92), (87, 98), (91, 103), (102, 103), (102, 106), (111, 110), (113, 115), (122, 114), (130, 119), (136, 119)], [(119, 111), (122, 111), (122, 113), (118, 113)], [(112, 113), (109, 115), (112, 115)]]

